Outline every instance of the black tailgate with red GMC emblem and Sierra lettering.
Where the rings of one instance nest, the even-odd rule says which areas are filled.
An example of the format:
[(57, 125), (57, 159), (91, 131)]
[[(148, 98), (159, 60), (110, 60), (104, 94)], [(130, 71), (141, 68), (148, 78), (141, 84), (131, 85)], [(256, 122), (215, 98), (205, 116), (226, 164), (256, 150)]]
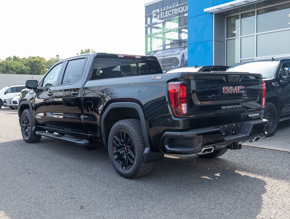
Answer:
[(261, 79), (241, 72), (189, 73), (190, 128), (261, 118)]

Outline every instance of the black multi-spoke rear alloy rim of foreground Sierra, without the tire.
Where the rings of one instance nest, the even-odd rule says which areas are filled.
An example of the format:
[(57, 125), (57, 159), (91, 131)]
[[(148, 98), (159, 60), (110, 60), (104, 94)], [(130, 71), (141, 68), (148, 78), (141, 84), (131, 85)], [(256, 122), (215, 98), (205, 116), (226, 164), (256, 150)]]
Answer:
[(135, 161), (135, 147), (132, 138), (126, 131), (121, 130), (115, 134), (113, 143), (115, 161), (122, 169), (130, 169)]

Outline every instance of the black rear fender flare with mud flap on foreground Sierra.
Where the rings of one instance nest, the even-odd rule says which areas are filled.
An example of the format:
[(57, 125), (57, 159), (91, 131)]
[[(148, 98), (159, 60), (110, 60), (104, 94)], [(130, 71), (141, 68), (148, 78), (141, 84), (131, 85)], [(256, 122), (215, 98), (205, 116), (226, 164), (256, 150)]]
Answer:
[(156, 153), (151, 151), (150, 149), (150, 144), (149, 144), (149, 139), (148, 139), (148, 132), (147, 132), (147, 127), (146, 127), (146, 121), (145, 121), (145, 115), (143, 113), (143, 110), (141, 106), (137, 103), (134, 102), (115, 102), (110, 104), (106, 109), (103, 115), (101, 116), (101, 133), (102, 133), (102, 140), (104, 143), (104, 146), (106, 149), (108, 149), (107, 145), (107, 140), (106, 140), (106, 135), (105, 135), (105, 128), (104, 128), (104, 120), (106, 119), (106, 116), (110, 112), (111, 109), (113, 108), (134, 108), (137, 110), (139, 117), (140, 117), (140, 122), (141, 122), (141, 127), (143, 131), (143, 137), (144, 137), (144, 143), (145, 143), (145, 151), (144, 151), (144, 160), (145, 162), (155, 162), (155, 161), (161, 161), (164, 158), (163, 153)]

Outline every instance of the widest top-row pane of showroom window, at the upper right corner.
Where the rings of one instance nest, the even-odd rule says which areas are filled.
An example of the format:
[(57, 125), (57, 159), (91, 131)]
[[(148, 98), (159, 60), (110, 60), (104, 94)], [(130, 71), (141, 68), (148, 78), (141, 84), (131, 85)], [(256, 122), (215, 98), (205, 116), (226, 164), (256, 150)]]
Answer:
[(290, 27), (290, 3), (257, 11), (257, 33)]

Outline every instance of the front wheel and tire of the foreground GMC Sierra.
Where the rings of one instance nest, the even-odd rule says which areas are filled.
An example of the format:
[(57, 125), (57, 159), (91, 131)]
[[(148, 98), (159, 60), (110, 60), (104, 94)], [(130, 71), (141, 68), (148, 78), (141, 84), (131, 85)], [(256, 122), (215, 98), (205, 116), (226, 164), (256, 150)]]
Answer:
[(23, 111), (20, 120), (21, 134), (23, 140), (28, 143), (39, 142), (41, 136), (33, 133), (32, 128), (35, 126), (33, 123), (33, 118), (30, 109), (26, 109)]

